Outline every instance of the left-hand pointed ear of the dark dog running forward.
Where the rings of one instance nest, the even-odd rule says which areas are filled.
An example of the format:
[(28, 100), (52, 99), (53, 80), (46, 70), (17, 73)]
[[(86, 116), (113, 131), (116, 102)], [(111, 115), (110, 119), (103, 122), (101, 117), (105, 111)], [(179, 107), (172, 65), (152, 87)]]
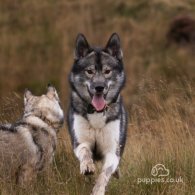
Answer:
[(76, 38), (75, 59), (85, 57), (90, 50), (87, 39), (83, 34), (78, 34)]

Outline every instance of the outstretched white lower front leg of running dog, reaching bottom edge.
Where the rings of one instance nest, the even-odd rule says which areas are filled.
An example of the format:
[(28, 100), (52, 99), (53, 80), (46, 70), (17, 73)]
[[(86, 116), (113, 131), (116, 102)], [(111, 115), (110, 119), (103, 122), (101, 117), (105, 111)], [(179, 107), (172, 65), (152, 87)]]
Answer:
[(92, 195), (104, 195), (111, 175), (116, 171), (119, 164), (119, 157), (114, 153), (105, 156), (105, 162), (101, 174), (96, 180)]

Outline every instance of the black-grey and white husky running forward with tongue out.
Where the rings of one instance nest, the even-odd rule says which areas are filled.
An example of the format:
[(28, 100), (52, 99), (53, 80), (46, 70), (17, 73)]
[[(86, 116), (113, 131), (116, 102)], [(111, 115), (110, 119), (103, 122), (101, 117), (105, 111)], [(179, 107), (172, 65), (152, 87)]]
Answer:
[(106, 47), (90, 47), (84, 35), (76, 39), (75, 60), (70, 73), (72, 88), (68, 127), (81, 174), (95, 171), (103, 160), (93, 195), (105, 187), (117, 171), (124, 150), (127, 115), (120, 91), (125, 83), (119, 36), (114, 33)]

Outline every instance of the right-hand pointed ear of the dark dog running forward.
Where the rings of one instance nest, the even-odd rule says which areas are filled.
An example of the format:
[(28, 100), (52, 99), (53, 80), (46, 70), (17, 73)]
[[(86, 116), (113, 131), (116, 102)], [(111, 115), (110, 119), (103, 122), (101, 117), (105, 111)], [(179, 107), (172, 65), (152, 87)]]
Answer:
[(105, 47), (106, 52), (110, 55), (116, 57), (117, 59), (122, 59), (123, 53), (120, 46), (120, 38), (117, 33), (113, 33), (108, 40), (108, 43)]

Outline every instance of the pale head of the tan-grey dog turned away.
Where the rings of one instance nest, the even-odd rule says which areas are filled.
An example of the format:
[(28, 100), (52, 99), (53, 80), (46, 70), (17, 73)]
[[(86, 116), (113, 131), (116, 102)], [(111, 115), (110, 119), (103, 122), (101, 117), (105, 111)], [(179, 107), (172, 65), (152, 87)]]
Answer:
[(64, 113), (56, 89), (48, 86), (47, 93), (33, 95), (29, 90), (24, 94), (24, 116), (38, 116), (60, 127), (64, 122)]

